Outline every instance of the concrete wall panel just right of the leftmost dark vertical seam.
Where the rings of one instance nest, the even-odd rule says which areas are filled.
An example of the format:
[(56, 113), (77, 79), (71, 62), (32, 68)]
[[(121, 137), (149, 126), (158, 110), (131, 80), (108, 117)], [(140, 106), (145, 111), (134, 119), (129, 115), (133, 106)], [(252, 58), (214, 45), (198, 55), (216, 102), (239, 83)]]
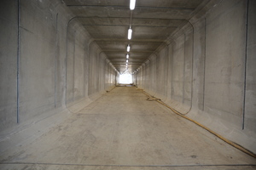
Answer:
[(55, 20), (45, 8), (20, 2), (20, 122), (55, 105)]

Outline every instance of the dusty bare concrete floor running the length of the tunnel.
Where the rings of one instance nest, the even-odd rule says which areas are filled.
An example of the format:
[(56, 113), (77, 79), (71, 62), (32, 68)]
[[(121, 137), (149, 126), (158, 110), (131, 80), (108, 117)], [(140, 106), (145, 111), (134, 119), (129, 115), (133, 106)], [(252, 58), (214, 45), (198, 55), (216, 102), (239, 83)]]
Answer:
[(256, 159), (194, 123), (117, 87), (32, 143), (0, 157), (0, 169), (256, 169)]

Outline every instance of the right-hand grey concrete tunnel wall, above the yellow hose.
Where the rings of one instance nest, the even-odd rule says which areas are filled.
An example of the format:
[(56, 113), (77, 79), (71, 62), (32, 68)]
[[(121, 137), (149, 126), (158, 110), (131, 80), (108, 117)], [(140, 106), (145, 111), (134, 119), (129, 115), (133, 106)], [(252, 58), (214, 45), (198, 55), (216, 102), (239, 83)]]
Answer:
[(254, 153), (255, 9), (253, 0), (207, 4), (134, 76), (138, 88)]

